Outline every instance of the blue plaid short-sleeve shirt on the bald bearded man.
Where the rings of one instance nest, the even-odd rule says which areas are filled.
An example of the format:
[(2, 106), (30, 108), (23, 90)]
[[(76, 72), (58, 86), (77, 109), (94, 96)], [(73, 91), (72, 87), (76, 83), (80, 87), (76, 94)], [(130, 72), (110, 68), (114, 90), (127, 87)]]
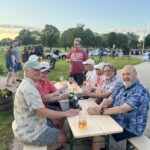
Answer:
[(143, 85), (138, 80), (127, 89), (121, 84), (113, 91), (111, 97), (113, 98), (113, 106), (121, 106), (126, 103), (133, 108), (124, 114), (113, 115), (113, 118), (125, 130), (135, 135), (143, 134), (150, 101), (150, 95)]

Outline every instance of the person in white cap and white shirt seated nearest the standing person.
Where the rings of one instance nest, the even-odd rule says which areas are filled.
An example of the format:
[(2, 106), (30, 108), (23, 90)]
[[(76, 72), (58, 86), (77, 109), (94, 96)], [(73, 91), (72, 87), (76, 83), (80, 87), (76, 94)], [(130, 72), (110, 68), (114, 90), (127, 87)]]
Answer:
[[(84, 82), (84, 85), (86, 87), (91, 87), (96, 84), (96, 70), (94, 69), (95, 61), (92, 59), (87, 59), (83, 62), (86, 73), (86, 81)], [(90, 89), (89, 89), (90, 90)]]

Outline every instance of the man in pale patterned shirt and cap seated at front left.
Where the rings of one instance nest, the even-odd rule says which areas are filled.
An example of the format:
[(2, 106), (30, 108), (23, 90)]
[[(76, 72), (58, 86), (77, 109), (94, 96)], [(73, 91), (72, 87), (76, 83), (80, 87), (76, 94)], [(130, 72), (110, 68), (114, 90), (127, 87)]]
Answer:
[(25, 78), (16, 91), (14, 101), (14, 135), (23, 143), (57, 149), (66, 141), (66, 134), (48, 126), (46, 118), (73, 116), (78, 114), (78, 110), (56, 112), (45, 108), (35, 83), (42, 69), (40, 63), (27, 61), (23, 69)]

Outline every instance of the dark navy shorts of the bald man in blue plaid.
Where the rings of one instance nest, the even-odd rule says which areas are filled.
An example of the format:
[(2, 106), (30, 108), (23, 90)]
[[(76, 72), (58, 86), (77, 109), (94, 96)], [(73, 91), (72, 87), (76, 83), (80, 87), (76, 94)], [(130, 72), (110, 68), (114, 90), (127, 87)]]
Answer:
[(112, 134), (112, 137), (115, 139), (116, 142), (119, 142), (121, 140), (124, 140), (124, 139), (128, 139), (128, 138), (131, 138), (131, 137), (135, 137), (137, 135), (123, 129), (123, 132), (122, 133), (115, 133), (115, 134)]

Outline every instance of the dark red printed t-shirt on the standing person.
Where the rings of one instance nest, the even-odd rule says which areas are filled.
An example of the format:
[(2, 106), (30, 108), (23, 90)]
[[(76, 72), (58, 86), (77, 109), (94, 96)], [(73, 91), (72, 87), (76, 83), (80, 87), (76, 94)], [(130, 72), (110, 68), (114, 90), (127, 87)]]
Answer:
[(75, 59), (70, 63), (70, 73), (78, 74), (84, 71), (84, 65), (82, 64), (82, 62), (88, 59), (88, 54), (83, 49), (72, 49), (68, 53), (67, 59)]

